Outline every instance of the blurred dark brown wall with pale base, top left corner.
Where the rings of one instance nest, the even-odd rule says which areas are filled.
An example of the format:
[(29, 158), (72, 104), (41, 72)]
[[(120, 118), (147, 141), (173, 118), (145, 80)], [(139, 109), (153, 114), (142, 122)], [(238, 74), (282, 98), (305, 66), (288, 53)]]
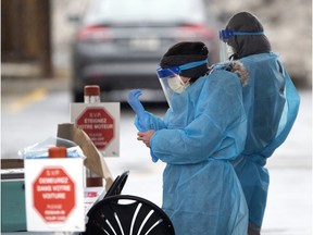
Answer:
[(1, 75), (51, 76), (50, 22), (49, 0), (1, 1)]

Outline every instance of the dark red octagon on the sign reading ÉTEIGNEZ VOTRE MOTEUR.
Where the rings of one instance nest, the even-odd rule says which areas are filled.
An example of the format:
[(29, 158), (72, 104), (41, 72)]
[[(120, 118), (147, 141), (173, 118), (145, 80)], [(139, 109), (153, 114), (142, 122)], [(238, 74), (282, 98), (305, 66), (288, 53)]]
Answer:
[(104, 108), (86, 108), (76, 119), (76, 125), (100, 150), (105, 149), (114, 138), (114, 120)]

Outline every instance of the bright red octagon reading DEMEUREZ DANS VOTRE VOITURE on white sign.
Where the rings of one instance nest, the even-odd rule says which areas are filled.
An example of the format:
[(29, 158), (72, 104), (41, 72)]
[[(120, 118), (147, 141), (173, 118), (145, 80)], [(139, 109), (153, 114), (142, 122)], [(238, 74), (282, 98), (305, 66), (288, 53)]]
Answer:
[(75, 184), (62, 168), (46, 168), (33, 183), (34, 207), (46, 223), (65, 222), (75, 207)]

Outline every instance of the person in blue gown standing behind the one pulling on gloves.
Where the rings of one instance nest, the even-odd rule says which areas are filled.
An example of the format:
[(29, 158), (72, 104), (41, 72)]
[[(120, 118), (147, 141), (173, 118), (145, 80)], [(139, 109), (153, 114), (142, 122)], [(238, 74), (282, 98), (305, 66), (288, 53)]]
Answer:
[[(245, 150), (234, 161), (249, 207), (249, 234), (260, 234), (270, 184), (266, 160), (287, 138), (299, 109), (299, 95), (260, 21), (248, 12), (235, 14), (220, 32), (222, 55), (247, 67), (243, 87), (248, 116)], [(224, 49), (223, 49), (224, 48)]]

